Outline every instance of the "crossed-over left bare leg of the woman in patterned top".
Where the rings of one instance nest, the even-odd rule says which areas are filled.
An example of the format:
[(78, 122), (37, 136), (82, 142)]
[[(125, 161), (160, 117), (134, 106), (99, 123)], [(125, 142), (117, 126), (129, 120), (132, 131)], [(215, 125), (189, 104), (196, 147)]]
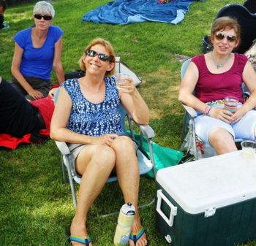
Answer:
[[(78, 206), (70, 227), (71, 235), (88, 237), (86, 220), (89, 208), (99, 195), (115, 166), (116, 154), (107, 145), (88, 145), (78, 155), (76, 171), (82, 174)], [(72, 242), (74, 246), (82, 244)]]

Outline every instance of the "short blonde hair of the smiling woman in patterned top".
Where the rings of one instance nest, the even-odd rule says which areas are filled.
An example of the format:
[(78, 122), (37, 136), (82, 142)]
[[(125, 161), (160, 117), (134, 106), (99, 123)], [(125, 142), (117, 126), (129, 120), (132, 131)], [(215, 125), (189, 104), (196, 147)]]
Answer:
[[(108, 62), (116, 64), (116, 54), (113, 49), (113, 46), (110, 44), (110, 42), (108, 40), (105, 40), (102, 38), (97, 38), (97, 39), (91, 40), (89, 45), (87, 45), (87, 47), (85, 48), (82, 57), (78, 61), (78, 64), (79, 64), (81, 70), (86, 72), (86, 64), (84, 64), (83, 58), (86, 56), (86, 51), (91, 50), (91, 47), (93, 47), (94, 45), (102, 45), (103, 47), (105, 47), (105, 49), (108, 51), (109, 57), (110, 57), (110, 61), (108, 61)], [(107, 71), (105, 73), (105, 76), (111, 77), (111, 76), (113, 76), (114, 73), (115, 73), (115, 66), (113, 67), (113, 69), (111, 71)]]

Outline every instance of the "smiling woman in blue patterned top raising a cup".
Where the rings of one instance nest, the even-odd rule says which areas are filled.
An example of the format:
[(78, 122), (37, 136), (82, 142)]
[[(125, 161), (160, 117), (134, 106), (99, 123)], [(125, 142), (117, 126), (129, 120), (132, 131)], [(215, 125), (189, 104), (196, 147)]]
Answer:
[[(135, 145), (121, 129), (122, 104), (140, 124), (149, 120), (148, 107), (127, 77), (118, 84), (112, 77), (115, 53), (110, 42), (94, 39), (79, 61), (85, 77), (66, 80), (59, 92), (50, 126), (50, 137), (69, 143), (75, 159), (75, 172), (82, 176), (78, 206), (70, 227), (72, 245), (92, 245), (86, 228), (87, 214), (94, 199), (114, 170), (124, 201), (135, 206), (131, 234), (142, 228), (138, 213), (140, 174)], [(140, 245), (147, 245), (146, 234), (140, 234)], [(135, 242), (130, 239), (130, 245)]]

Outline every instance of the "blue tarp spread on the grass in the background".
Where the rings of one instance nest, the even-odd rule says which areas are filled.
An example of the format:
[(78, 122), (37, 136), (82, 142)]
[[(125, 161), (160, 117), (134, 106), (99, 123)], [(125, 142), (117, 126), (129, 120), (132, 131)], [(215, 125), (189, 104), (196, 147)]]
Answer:
[(193, 0), (116, 0), (83, 15), (82, 21), (127, 25), (146, 20), (177, 24), (184, 19)]

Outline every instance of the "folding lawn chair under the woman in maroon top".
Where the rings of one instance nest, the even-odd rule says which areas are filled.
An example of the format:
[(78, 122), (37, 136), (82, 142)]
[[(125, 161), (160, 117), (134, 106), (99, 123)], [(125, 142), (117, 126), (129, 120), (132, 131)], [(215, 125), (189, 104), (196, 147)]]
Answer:
[[(191, 58), (181, 65), (181, 80), (184, 77), (184, 74), (189, 66)], [(246, 86), (242, 85), (242, 90), (244, 97), (249, 96), (249, 91)], [(211, 145), (204, 143), (197, 135), (195, 134), (195, 118), (197, 117), (197, 112), (192, 107), (189, 107), (185, 104), (182, 104), (185, 111), (184, 115), (184, 123), (181, 129), (181, 148), (180, 150), (183, 152), (187, 151), (187, 154), (194, 156), (195, 160), (199, 158), (206, 158), (213, 155), (216, 155), (216, 152)], [(188, 130), (188, 131), (187, 131)], [(187, 135), (186, 135), (187, 134)], [(186, 137), (185, 137), (186, 135)], [(235, 139), (236, 145), (239, 146), (240, 142), (244, 139)], [(185, 156), (187, 155), (185, 154)], [(189, 159), (191, 160), (191, 159)]]

